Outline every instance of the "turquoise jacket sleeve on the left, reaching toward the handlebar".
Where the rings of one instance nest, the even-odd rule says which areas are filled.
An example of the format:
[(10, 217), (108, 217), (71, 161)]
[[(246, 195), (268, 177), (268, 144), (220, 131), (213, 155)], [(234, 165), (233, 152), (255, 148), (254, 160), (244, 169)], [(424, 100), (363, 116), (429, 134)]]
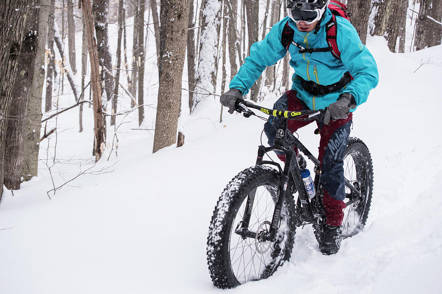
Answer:
[(244, 64), (230, 81), (230, 89), (239, 89), (243, 95), (246, 95), (266, 67), (274, 65), (285, 56), (287, 49), (282, 46), (281, 34), (286, 22), (284, 18), (276, 23), (264, 40), (250, 46), (250, 55), (246, 57)]

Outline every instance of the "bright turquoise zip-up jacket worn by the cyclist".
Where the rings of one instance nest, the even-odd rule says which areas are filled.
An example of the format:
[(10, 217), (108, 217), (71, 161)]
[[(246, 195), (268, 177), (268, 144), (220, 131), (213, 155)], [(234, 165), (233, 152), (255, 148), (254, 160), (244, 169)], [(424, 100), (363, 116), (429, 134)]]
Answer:
[[(293, 40), (304, 48), (327, 48), (325, 25), (331, 19), (331, 11), (327, 9), (317, 34), (314, 31), (301, 32), (295, 22), (285, 17), (276, 23), (264, 40), (250, 47), (250, 56), (245, 60), (238, 73), (231, 80), (229, 87), (249, 92), (253, 83), (259, 78), (267, 66), (274, 65), (283, 58), (287, 49), (281, 43), (284, 25), (289, 22), (293, 28)], [(350, 92), (358, 105), (367, 100), (368, 92), (376, 87), (379, 80), (378, 67), (370, 51), (362, 44), (359, 35), (350, 22), (336, 17), (336, 43), (341, 52), (341, 59), (333, 57), (331, 52), (299, 53), (299, 49), (290, 45), (290, 65), (295, 70), (292, 76), (292, 89), (298, 93), (312, 110), (324, 109), (335, 102), (340, 93)], [(342, 89), (324, 96), (313, 96), (301, 86), (300, 76), (306, 81), (319, 85), (331, 85), (339, 81), (345, 72), (350, 72), (354, 79)]]

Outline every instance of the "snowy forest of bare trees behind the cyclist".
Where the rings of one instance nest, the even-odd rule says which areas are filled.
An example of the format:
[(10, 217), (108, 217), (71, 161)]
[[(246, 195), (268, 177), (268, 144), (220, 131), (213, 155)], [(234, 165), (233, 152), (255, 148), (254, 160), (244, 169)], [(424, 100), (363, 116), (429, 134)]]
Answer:
[[(383, 36), (397, 53), (441, 44), (442, 0), (344, 2), (364, 43), (367, 35)], [(103, 152), (108, 160), (117, 156), (118, 129), (134, 119), (133, 129), (154, 133), (152, 152), (182, 146), (179, 118), (218, 99), (250, 45), (286, 15), (284, 6), (282, 0), (2, 1), (0, 197), (3, 187), (18, 190), (39, 169), (51, 172), (69, 162), (56, 155), (63, 131), (58, 116), (66, 111), (79, 112), (82, 132), (83, 108), (93, 108), (90, 160)], [(110, 37), (110, 27), (116, 36)], [(149, 44), (155, 46), (151, 56)], [(288, 58), (265, 70), (250, 99), (289, 89)], [(156, 105), (146, 104), (146, 93), (153, 92)], [(52, 140), (53, 152), (41, 152), (45, 140)], [(52, 193), (60, 187), (54, 184)]]

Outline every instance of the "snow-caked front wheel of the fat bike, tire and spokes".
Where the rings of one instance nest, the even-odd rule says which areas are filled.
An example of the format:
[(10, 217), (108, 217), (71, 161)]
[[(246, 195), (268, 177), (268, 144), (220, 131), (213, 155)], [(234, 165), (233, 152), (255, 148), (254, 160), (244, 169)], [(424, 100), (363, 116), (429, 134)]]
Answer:
[[(240, 172), (222, 192), (207, 238), (207, 263), (218, 288), (268, 278), (290, 258), (296, 229), (292, 197), (284, 198), (276, 241), (259, 238), (270, 230), (280, 181), (278, 171), (258, 165)], [(254, 238), (238, 233), (249, 198), (253, 205), (247, 230), (256, 232)]]

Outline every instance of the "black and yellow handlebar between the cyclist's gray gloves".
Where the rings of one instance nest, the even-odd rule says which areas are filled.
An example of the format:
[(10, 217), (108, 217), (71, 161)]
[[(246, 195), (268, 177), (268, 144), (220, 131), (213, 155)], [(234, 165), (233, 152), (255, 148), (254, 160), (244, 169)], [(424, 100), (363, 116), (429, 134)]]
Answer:
[(257, 109), (269, 116), (285, 120), (322, 120), (325, 113), (325, 110), (284, 111), (280, 109), (269, 109), (244, 100), (238, 100), (236, 102), (235, 110), (238, 113), (243, 113), (244, 117), (246, 118), (249, 118), (251, 115), (255, 115), (255, 113), (249, 108)]

